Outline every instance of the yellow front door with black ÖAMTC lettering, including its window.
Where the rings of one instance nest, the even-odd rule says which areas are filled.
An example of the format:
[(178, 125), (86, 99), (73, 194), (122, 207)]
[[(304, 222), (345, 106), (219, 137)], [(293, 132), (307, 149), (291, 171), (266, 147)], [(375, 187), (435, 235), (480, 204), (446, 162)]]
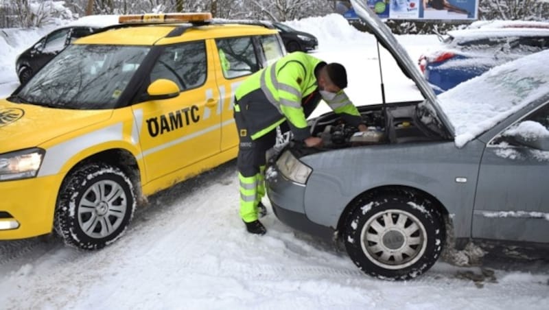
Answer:
[(139, 140), (148, 180), (220, 152), (219, 93), (212, 62), (204, 40), (170, 45), (163, 48), (145, 77), (146, 84), (167, 79), (180, 88), (178, 97), (132, 106), (140, 124)]

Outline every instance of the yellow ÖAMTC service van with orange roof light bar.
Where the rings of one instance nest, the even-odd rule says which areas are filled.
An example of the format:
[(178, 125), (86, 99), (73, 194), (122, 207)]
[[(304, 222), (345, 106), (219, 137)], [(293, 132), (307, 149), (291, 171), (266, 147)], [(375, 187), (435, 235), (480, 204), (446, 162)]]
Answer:
[(146, 196), (237, 154), (233, 91), (285, 50), (209, 13), (121, 16), (0, 100), (0, 240), (118, 239)]

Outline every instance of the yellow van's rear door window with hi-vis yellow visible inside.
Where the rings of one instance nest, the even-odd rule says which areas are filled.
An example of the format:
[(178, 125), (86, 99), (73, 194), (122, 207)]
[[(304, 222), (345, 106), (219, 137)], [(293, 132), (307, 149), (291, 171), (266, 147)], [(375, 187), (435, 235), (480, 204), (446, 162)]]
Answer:
[(215, 40), (220, 51), (223, 75), (227, 79), (250, 75), (259, 70), (251, 37)]

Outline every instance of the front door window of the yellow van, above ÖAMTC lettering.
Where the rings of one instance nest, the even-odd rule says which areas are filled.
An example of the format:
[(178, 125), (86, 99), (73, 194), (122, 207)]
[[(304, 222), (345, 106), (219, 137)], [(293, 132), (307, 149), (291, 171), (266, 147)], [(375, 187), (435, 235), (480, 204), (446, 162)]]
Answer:
[(185, 91), (204, 84), (206, 75), (206, 45), (197, 41), (166, 47), (150, 72), (150, 82), (172, 80)]

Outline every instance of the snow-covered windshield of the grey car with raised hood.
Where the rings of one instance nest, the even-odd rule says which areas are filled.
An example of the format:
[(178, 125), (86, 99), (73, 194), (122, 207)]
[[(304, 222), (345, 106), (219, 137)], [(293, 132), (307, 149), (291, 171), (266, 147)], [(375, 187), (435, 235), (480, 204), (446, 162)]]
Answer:
[(461, 147), (526, 104), (549, 95), (549, 50), (494, 67), (439, 95)]

